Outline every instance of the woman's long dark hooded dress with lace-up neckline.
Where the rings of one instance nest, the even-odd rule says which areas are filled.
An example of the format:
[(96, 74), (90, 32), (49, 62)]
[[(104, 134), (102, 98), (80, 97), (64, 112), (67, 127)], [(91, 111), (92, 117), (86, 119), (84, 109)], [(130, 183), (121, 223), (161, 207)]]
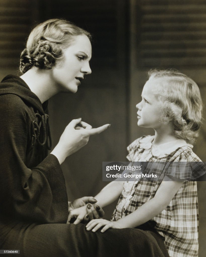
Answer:
[[(156, 232), (88, 232), (66, 224), (68, 202), (51, 139), (47, 102), (18, 76), (0, 84), (0, 249), (16, 256), (168, 256)], [(13, 254), (12, 256), (15, 256)]]

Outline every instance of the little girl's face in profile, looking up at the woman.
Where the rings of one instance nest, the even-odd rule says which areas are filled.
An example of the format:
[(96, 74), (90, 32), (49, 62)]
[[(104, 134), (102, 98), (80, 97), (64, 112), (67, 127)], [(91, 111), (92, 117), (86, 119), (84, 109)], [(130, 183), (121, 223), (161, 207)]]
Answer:
[(157, 129), (163, 124), (160, 123), (161, 103), (153, 94), (153, 91), (158, 86), (158, 80), (150, 78), (143, 87), (142, 101), (136, 105), (138, 109), (138, 126)]

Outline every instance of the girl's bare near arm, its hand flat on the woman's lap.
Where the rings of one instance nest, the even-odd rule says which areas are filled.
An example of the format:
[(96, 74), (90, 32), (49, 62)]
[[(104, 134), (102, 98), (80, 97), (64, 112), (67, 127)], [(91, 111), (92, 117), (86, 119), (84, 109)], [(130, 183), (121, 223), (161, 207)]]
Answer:
[(134, 228), (149, 221), (164, 210), (173, 199), (184, 181), (162, 181), (155, 196), (148, 202), (144, 203), (133, 213), (118, 221), (107, 221), (104, 219), (95, 219), (87, 224), (87, 230), (93, 232), (104, 226), (101, 232), (108, 228)]

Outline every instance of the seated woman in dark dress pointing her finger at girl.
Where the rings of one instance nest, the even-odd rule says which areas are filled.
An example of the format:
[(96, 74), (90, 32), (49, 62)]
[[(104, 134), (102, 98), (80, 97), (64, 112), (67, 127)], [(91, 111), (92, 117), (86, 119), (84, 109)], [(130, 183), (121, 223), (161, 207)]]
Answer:
[[(160, 251), (157, 242), (152, 249), (145, 247), (150, 236), (136, 234), (135, 229), (94, 234), (83, 224), (66, 224), (68, 202), (60, 164), (109, 124), (91, 128), (81, 118), (73, 120), (47, 155), (51, 148), (47, 100), (58, 92), (75, 93), (91, 73), (90, 59), (88, 32), (65, 20), (48, 20), (28, 38), (21, 54), (23, 75), (9, 75), (1, 82), (0, 248), (20, 249), (17, 256), (136, 256), (137, 251), (140, 256), (155, 256), (150, 253)], [(78, 199), (69, 210), (88, 202), (95, 199)], [(89, 206), (88, 214), (98, 217)], [(142, 249), (136, 240), (141, 240)], [(159, 244), (164, 245), (162, 240)]]

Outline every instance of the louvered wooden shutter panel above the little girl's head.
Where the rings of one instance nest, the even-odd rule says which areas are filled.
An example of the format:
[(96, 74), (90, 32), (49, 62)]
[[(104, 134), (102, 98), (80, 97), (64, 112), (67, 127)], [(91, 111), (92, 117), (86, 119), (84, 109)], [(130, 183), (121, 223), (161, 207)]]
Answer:
[(137, 66), (206, 65), (205, 0), (136, 1)]

